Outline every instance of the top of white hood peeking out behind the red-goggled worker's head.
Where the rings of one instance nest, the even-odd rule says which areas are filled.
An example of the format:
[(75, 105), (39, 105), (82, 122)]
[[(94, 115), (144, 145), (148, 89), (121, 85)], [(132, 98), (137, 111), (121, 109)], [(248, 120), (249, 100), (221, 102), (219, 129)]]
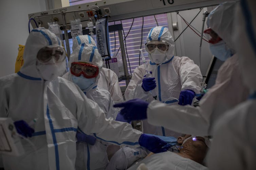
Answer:
[(78, 35), (74, 39), (72, 50), (74, 51), (78, 45), (83, 44), (83, 43), (85, 43), (85, 47), (96, 46), (95, 41), (93, 40), (93, 38), (90, 35)]

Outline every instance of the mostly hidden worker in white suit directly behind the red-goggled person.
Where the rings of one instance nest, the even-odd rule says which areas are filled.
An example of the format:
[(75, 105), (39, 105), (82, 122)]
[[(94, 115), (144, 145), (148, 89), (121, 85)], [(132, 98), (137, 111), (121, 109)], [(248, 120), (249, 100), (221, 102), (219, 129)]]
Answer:
[[(73, 42), (72, 50), (74, 51), (78, 45), (86, 43), (88, 45), (96, 46), (95, 41), (90, 35), (78, 35)], [(109, 91), (114, 103), (123, 102), (123, 95), (119, 86), (118, 77), (110, 69), (102, 68), (99, 72), (99, 79), (97, 86), (99, 88)]]

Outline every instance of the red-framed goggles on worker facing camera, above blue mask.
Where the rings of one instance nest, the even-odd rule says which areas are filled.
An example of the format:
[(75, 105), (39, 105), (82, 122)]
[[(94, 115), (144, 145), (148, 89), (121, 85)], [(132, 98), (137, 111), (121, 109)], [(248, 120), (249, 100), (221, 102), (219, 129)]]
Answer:
[(97, 77), (99, 68), (89, 63), (73, 62), (70, 71), (77, 77), (82, 74), (85, 78), (94, 78)]

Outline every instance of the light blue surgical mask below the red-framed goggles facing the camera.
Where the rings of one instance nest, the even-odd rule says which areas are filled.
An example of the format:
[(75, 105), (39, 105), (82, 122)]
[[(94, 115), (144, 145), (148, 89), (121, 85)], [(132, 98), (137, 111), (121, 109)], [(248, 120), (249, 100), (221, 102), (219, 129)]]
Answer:
[(72, 80), (74, 81), (74, 83), (76, 83), (76, 85), (81, 89), (81, 90), (90, 90), (88, 89), (89, 87), (92, 86), (92, 84), (95, 83), (96, 78), (85, 78), (83, 75), (81, 75), (80, 77), (71, 75)]

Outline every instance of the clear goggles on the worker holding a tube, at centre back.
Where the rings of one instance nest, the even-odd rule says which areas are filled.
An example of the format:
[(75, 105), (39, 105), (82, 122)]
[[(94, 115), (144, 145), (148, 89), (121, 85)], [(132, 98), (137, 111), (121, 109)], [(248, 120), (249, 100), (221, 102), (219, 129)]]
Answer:
[(166, 53), (169, 47), (168, 43), (165, 41), (150, 41), (145, 45), (146, 45), (146, 51), (148, 53), (153, 53), (156, 50), (156, 48), (158, 48), (160, 52)]

